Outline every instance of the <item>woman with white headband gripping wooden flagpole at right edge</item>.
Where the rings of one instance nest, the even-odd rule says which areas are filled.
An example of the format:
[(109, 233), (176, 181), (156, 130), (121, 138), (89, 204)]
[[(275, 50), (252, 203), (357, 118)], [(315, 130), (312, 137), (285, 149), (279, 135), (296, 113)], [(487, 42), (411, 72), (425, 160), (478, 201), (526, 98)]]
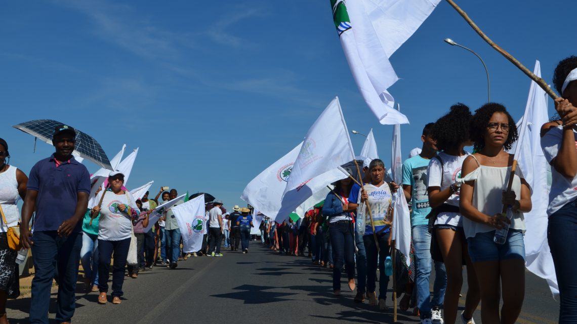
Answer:
[(577, 319), (577, 57), (555, 68), (553, 84), (562, 98), (555, 100), (561, 120), (542, 127), (541, 147), (551, 165), (547, 238), (559, 284), (559, 323)]

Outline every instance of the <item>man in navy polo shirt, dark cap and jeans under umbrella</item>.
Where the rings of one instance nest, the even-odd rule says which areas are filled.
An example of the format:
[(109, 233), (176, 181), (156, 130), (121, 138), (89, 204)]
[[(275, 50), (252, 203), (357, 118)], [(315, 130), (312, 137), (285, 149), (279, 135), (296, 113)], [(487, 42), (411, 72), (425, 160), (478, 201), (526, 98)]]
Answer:
[(33, 211), (36, 214), (32, 231), (21, 226), (20, 236), (24, 247), (32, 248), (36, 270), (30, 323), (48, 323), (54, 277), (58, 281), (56, 321), (70, 323), (76, 307), (74, 292), (82, 247), (80, 219), (88, 207), (90, 176), (72, 155), (75, 138), (72, 127), (57, 126), (52, 140), (55, 153), (36, 163), (28, 179), (22, 224), (29, 224)]

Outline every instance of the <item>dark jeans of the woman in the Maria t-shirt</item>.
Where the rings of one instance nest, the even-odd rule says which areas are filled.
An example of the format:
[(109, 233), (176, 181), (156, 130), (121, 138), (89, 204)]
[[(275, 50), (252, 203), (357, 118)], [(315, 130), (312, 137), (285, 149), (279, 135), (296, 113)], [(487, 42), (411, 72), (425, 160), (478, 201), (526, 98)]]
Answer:
[(367, 234), (362, 237), (365, 243), (366, 251), (366, 290), (374, 292), (376, 289), (377, 280), (377, 257), (379, 258), (379, 299), (387, 299), (387, 286), (389, 285), (389, 276), (385, 274), (385, 259), (390, 254), (388, 245), (389, 232), (377, 235), (379, 240), (379, 249), (377, 253), (377, 245), (374, 243), (374, 235)]

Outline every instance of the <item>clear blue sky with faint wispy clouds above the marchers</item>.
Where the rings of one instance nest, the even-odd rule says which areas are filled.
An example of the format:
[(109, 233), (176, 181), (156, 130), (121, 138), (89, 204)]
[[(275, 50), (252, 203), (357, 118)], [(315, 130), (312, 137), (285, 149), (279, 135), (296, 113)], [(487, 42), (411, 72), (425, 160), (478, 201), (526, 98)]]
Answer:
[[(539, 59), (549, 83), (557, 62), (577, 54), (577, 2), (458, 3), (529, 69)], [(400, 80), (389, 91), (411, 122), (401, 127), (403, 156), (453, 103), (486, 101), (481, 62), (447, 37), (481, 55), (492, 100), (522, 116), (530, 80), (441, 1), (391, 57)], [(129, 188), (154, 180), (153, 192), (209, 192), (230, 208), (335, 96), (349, 129), (373, 128), (390, 161), (392, 126), (359, 95), (328, 0), (12, 1), (0, 11), (0, 39), (0, 137), (26, 173), (53, 148), (38, 143), (33, 154), (33, 137), (12, 125), (54, 119), (96, 137), (110, 158), (123, 143), (127, 154), (140, 147)], [(360, 151), (364, 137), (351, 139)]]

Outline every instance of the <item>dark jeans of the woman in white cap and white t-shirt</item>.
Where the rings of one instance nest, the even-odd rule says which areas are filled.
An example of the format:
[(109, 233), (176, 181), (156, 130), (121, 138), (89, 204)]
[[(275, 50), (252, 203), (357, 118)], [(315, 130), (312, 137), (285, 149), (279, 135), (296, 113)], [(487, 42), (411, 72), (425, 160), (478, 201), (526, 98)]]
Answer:
[(130, 248), (130, 237), (119, 241), (98, 240), (98, 290), (108, 292), (108, 277), (110, 277), (110, 259), (114, 252), (114, 265), (112, 269), (112, 296), (123, 295), (122, 283), (124, 282), (124, 267)]

